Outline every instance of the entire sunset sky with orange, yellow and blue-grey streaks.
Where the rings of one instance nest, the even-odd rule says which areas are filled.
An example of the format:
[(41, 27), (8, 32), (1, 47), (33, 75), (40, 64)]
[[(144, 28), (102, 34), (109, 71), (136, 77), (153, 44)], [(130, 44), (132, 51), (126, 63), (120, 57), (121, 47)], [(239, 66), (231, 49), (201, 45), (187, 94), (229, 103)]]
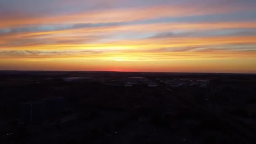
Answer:
[(0, 0), (0, 70), (256, 73), (256, 0)]

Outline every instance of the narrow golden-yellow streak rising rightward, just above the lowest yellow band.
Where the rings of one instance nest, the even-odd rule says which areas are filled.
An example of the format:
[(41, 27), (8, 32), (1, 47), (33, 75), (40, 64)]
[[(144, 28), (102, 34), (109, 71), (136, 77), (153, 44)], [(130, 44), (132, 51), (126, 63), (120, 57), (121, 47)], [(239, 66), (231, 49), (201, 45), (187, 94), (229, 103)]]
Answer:
[[(55, 38), (47, 39), (55, 41)], [(67, 39), (64, 39), (67, 40)], [(78, 39), (79, 40), (79, 39)], [(42, 40), (43, 41), (43, 40)], [(5, 43), (5, 42), (2, 42)], [(138, 49), (138, 48), (176, 48), (176, 47), (192, 47), (204, 45), (223, 45), (223, 44), (255, 44), (256, 36), (251, 37), (167, 37), (167, 38), (149, 38), (141, 40), (120, 40), (112, 43), (88, 43), (88, 44), (72, 44), (72, 43), (52, 43), (52, 44), (33, 44), (33, 45), (13, 45), (12, 47), (3, 47), (2, 50), (70, 50), (70, 49)], [(157, 50), (156, 50), (157, 51)]]

